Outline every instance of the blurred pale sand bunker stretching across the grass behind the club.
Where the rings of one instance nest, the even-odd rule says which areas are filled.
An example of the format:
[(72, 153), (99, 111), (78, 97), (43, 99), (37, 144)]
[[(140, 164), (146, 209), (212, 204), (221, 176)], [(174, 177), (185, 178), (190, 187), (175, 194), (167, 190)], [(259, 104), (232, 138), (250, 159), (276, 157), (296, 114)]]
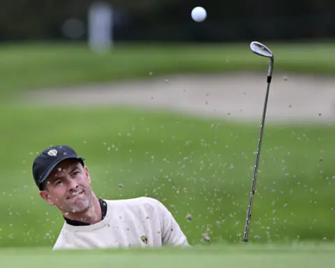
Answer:
[[(285, 79), (285, 77), (287, 79)], [(46, 105), (132, 105), (260, 121), (267, 88), (266, 73), (151, 76), (148, 80), (43, 89), (24, 96)], [(278, 74), (271, 82), (267, 121), (335, 119), (335, 79)]]

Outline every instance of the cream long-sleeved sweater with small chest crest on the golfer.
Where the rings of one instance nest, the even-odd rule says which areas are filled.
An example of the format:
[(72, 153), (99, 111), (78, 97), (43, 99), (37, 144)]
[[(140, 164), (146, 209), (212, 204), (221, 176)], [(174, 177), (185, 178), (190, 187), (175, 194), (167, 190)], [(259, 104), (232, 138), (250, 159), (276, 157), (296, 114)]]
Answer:
[(154, 198), (105, 200), (102, 221), (84, 226), (64, 223), (54, 249), (189, 246), (168, 209)]

